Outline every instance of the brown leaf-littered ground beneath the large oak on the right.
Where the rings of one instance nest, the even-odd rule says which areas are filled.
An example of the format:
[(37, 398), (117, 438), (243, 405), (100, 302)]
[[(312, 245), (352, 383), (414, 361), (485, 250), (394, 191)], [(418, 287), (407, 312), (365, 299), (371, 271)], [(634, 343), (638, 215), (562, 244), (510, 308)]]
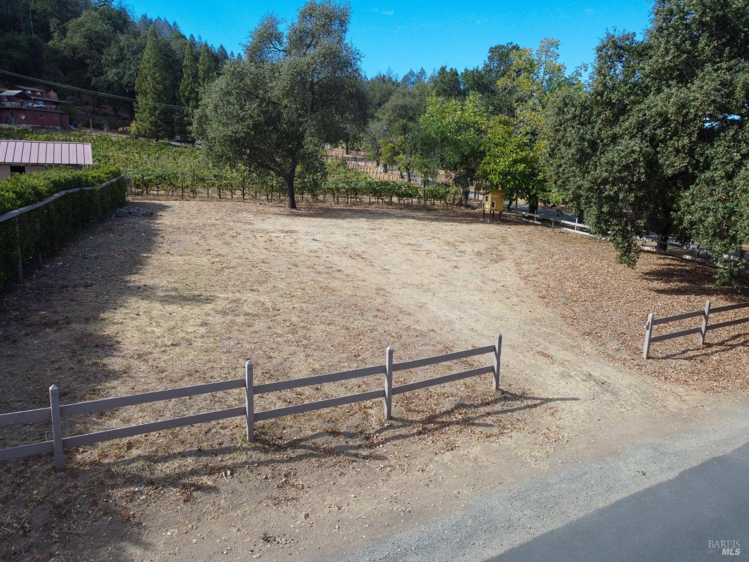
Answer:
[[(542, 253), (516, 257), (527, 285), (552, 312), (595, 342), (610, 359), (643, 375), (698, 390), (749, 390), (749, 322), (709, 331), (705, 345), (690, 335), (650, 348), (643, 360), (644, 324), (656, 318), (749, 300), (749, 279), (739, 288), (716, 287), (714, 270), (694, 262), (643, 253), (635, 268), (616, 262), (609, 244), (536, 228)], [(749, 316), (720, 312), (711, 323)], [(690, 318), (654, 327), (653, 335), (698, 327)]]

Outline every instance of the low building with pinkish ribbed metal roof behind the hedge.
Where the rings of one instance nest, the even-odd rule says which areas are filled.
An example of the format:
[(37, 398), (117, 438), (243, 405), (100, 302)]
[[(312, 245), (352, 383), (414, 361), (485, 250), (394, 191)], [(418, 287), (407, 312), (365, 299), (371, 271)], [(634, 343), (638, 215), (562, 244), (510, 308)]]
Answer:
[(52, 166), (91, 166), (90, 142), (0, 140), (0, 181), (10, 174), (41, 172)]

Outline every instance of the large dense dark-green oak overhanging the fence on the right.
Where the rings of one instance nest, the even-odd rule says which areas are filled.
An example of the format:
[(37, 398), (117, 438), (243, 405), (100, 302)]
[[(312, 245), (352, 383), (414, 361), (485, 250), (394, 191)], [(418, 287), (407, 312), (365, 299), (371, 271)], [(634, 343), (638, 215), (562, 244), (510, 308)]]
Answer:
[(655, 232), (714, 247), (718, 280), (741, 266), (723, 254), (749, 238), (748, 28), (742, 0), (658, 0), (643, 40), (608, 34), (551, 104), (548, 173), (622, 262)]

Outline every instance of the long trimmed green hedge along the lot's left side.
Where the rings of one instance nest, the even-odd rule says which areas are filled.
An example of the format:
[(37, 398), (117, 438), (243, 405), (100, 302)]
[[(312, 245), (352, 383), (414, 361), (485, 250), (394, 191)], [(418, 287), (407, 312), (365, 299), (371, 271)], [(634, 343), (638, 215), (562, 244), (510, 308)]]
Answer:
[[(117, 177), (117, 172), (117, 169), (50, 170), (13, 175), (0, 183), (0, 193), (5, 195), (2, 201), (9, 201), (10, 196), (6, 194), (10, 193), (17, 198), (16, 201), (24, 202), (22, 206), (28, 205), (32, 196), (35, 201), (40, 201), (60, 191), (97, 186), (66, 193), (46, 205), (0, 223), (0, 290), (16, 281), (19, 241), (21, 264), (26, 268), (43, 256), (51, 256), (77, 232), (95, 220), (109, 216), (124, 204), (127, 181), (124, 177)], [(17, 178), (23, 179), (19, 181)], [(10, 190), (5, 186), (9, 181), (13, 182)]]

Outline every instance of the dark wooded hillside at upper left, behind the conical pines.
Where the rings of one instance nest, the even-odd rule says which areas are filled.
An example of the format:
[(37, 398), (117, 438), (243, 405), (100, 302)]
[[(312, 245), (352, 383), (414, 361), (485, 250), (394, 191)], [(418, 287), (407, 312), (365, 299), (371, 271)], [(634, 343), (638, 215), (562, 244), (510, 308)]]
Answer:
[[(188, 43), (189, 56), (204, 75), (212, 75), (224, 61), (234, 58), (233, 52), (208, 45), (199, 35), (186, 37), (177, 22), (135, 16), (127, 6), (115, 5), (112, 0), (2, 0), (0, 70), (135, 97), (136, 77), (152, 26), (162, 39), (167, 67), (168, 97), (163, 103), (181, 105), (180, 85)], [(27, 82), (28, 79), (0, 74), (0, 85)], [(194, 87), (198, 86), (196, 83)], [(91, 118), (100, 127), (118, 127), (133, 118), (132, 103), (63, 88), (55, 91), (63, 100), (73, 102), (67, 107), (73, 121), (88, 124)], [(177, 133), (180, 127), (178, 123)]]

